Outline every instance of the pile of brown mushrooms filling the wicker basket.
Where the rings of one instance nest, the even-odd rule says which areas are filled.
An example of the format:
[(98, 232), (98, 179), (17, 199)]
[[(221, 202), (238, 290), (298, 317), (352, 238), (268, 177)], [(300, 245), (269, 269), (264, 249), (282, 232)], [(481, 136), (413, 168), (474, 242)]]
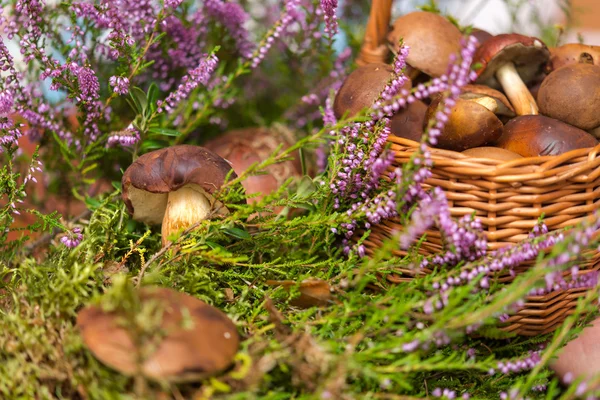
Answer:
[[(473, 30), (478, 40), (466, 85), (435, 145), (478, 158), (511, 160), (559, 155), (591, 148), (600, 137), (600, 47), (565, 44), (548, 48), (540, 39), (517, 33), (491, 35)], [(426, 11), (396, 19), (389, 46), (410, 47), (404, 89), (446, 73), (460, 52), (460, 30)], [(373, 105), (392, 75), (388, 64), (366, 64), (344, 81), (335, 99), (338, 118)], [(391, 133), (419, 141), (440, 97), (420, 99), (391, 119)]]

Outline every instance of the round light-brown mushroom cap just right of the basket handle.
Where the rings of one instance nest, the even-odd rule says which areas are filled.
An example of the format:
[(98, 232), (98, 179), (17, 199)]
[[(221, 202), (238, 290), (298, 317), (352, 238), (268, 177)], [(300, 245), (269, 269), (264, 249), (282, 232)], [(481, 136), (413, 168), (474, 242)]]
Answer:
[(452, 54), (460, 53), (460, 30), (441, 15), (415, 11), (396, 19), (388, 41), (398, 49), (400, 38), (410, 46), (407, 64), (429, 76), (440, 77), (448, 70)]

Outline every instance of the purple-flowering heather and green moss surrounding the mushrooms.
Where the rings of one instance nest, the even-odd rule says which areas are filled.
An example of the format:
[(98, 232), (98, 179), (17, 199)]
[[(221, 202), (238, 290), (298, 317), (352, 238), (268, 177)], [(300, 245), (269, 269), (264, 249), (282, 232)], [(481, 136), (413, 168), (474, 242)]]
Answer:
[[(432, 165), (427, 145), (436, 143), (460, 88), (473, 79), (469, 27), (462, 27), (463, 48), (448, 60), (446, 75), (401, 89), (410, 53), (402, 45), (373, 106), (337, 120), (333, 98), (355, 66), (360, 43), (352, 38), (362, 29), (355, 25), (364, 25), (356, 10), (368, 10), (368, 2), (285, 0), (259, 16), (250, 2), (222, 0), (0, 5), (2, 398), (516, 399), (590, 392), (594, 382), (560, 382), (548, 364), (596, 315), (597, 276), (580, 277), (577, 266), (584, 250), (598, 247), (597, 216), (568, 232), (548, 232), (542, 219), (527, 240), (485, 254), (475, 216), (453, 219), (444, 191), (424, 185)], [(350, 40), (338, 49), (341, 33)], [(392, 168), (389, 118), (433, 94), (442, 100), (422, 146)], [(164, 247), (160, 229), (130, 218), (121, 176), (140, 155), (202, 145), (248, 126), (289, 130), (296, 142), (225, 185), (231, 190), (218, 200), (229, 214)], [(25, 140), (36, 145), (31, 155)], [(303, 177), (244, 204), (250, 197), (239, 183), (295, 152)], [(41, 212), (30, 192), (42, 177), (49, 192), (60, 188), (86, 211)], [(108, 189), (90, 194), (102, 181)], [(275, 207), (282, 208), (277, 215)], [(17, 226), (22, 214), (35, 221)], [(368, 250), (370, 228), (392, 216), (404, 228)], [(423, 257), (419, 239), (431, 227), (442, 232), (443, 250)], [(526, 260), (535, 266), (511, 283), (501, 279)], [(386, 279), (399, 270), (412, 279)], [(300, 285), (269, 284), (309, 278), (325, 283), (325, 306), (299, 308), (293, 300)], [(174, 288), (226, 312), (242, 337), (231, 369), (174, 384), (124, 376), (97, 360), (77, 329), (78, 310), (128, 309), (124, 326), (151, 338), (156, 321), (136, 302), (145, 285)], [(526, 295), (571, 287), (590, 290), (554, 333), (528, 338), (499, 329)]]

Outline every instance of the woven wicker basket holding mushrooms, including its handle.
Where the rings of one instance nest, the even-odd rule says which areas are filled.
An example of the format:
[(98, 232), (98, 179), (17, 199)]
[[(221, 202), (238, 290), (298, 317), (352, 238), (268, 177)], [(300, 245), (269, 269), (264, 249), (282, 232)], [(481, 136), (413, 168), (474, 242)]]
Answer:
[[(388, 29), (390, 9), (389, 0), (373, 1), (365, 43), (359, 56), (361, 64), (386, 62), (388, 54), (382, 50), (386, 47), (384, 39), (374, 35)], [(381, 27), (382, 23), (385, 30)], [(395, 154), (392, 169), (406, 163), (420, 146), (417, 142), (395, 136), (390, 136), (388, 142)], [(513, 161), (473, 158), (442, 149), (429, 150), (433, 160), (432, 177), (426, 181), (425, 187), (444, 189), (453, 217), (474, 213), (484, 226), (489, 251), (526, 239), (542, 215), (552, 231), (573, 226), (600, 208), (600, 144), (592, 149), (573, 150), (559, 156)], [(401, 229), (400, 221), (395, 219), (372, 227), (364, 242), (367, 255), (398, 229)], [(440, 232), (431, 230), (426, 233), (419, 251), (425, 255), (439, 253), (442, 250)], [(404, 254), (397, 250), (397, 255)], [(517, 274), (523, 272), (533, 263), (523, 263), (514, 271)], [(580, 274), (598, 270), (600, 254), (590, 253), (579, 268)], [(407, 281), (414, 274), (415, 271), (409, 269), (398, 269), (397, 274), (389, 275), (387, 279), (391, 282)], [(513, 277), (506, 274), (499, 279), (510, 282)], [(552, 332), (573, 313), (577, 299), (585, 294), (586, 289), (569, 289), (544, 296), (528, 296), (524, 307), (513, 314), (501, 329), (525, 336)]]

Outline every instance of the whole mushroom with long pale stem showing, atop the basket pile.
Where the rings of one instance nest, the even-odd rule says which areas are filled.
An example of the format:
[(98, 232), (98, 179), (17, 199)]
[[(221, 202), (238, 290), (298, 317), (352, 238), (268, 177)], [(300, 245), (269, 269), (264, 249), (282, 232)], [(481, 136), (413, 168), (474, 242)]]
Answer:
[(538, 38), (501, 34), (477, 48), (473, 65), (480, 64), (477, 83), (504, 90), (517, 115), (536, 115), (538, 106), (526, 84), (543, 70), (550, 57)]

